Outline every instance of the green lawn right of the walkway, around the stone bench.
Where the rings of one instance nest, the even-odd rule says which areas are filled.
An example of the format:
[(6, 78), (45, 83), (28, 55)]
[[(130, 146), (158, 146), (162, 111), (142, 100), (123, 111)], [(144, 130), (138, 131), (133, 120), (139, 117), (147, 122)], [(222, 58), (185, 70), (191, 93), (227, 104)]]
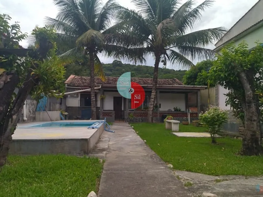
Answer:
[[(138, 135), (165, 162), (176, 170), (208, 175), (262, 175), (263, 157), (241, 157), (236, 153), (241, 140), (218, 138), (212, 145), (210, 138), (177, 137), (164, 129), (163, 123), (133, 123)], [(201, 132), (202, 127), (179, 126), (180, 132)]]

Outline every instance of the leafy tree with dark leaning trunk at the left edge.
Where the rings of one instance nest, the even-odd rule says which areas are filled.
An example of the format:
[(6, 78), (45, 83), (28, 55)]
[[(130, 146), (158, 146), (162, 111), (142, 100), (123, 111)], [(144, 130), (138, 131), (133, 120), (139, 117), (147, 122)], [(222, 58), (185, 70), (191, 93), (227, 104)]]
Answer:
[(18, 114), (28, 94), (37, 99), (41, 94), (60, 97), (57, 94), (63, 86), (65, 72), (63, 62), (55, 55), (53, 30), (36, 27), (32, 33), (36, 50), (21, 49), (18, 42), (26, 38), (26, 34), (21, 32), (18, 23), (10, 25), (10, 20), (8, 15), (0, 14), (0, 35), (5, 35), (0, 51), (0, 167), (6, 163)]

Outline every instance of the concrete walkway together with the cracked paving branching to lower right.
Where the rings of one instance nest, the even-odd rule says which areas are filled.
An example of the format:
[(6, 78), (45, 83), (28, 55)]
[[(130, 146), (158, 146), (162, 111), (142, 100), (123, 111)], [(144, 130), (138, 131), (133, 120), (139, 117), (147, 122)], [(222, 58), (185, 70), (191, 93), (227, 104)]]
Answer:
[[(92, 156), (106, 158), (98, 197), (263, 197), (263, 177), (209, 176), (172, 171), (128, 124), (103, 132)], [(217, 180), (217, 181), (216, 181)], [(184, 187), (191, 182), (193, 185)]]

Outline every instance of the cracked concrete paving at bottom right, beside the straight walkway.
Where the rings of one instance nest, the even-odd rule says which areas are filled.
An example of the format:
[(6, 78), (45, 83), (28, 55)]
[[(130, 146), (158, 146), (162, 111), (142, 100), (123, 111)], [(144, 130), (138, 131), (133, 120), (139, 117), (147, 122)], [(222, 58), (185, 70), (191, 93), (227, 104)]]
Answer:
[(193, 183), (188, 190), (194, 196), (210, 192), (218, 197), (263, 197), (262, 176), (209, 176), (185, 171), (174, 171), (174, 175), (180, 177), (182, 183)]

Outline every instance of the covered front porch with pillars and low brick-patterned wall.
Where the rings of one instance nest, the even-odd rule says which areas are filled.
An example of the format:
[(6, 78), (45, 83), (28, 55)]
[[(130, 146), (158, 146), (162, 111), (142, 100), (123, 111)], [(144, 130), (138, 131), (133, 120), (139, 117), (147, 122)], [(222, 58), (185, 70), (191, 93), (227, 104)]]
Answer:
[[(144, 122), (147, 119), (151, 89), (144, 88), (145, 100), (141, 107), (131, 109), (130, 99), (122, 97), (114, 88), (102, 87), (98, 93), (104, 95), (98, 100), (99, 118), (119, 122)], [(159, 107), (157, 107), (159, 106)], [(190, 111), (190, 119), (198, 119), (200, 112), (200, 87), (190, 89), (158, 88), (153, 120), (162, 122), (167, 114), (182, 121)]]

